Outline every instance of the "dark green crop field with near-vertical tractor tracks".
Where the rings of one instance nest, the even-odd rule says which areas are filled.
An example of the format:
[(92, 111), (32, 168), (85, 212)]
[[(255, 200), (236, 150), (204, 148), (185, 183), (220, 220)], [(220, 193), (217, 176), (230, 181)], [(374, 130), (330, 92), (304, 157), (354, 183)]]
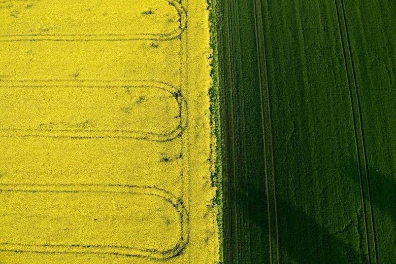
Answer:
[(396, 263), (396, 2), (213, 6), (224, 263)]

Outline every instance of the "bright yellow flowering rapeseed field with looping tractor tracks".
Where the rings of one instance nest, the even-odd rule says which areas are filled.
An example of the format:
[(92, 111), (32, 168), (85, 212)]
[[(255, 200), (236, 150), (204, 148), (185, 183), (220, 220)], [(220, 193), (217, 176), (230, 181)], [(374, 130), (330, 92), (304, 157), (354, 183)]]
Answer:
[(0, 263), (218, 261), (206, 0), (0, 2)]

